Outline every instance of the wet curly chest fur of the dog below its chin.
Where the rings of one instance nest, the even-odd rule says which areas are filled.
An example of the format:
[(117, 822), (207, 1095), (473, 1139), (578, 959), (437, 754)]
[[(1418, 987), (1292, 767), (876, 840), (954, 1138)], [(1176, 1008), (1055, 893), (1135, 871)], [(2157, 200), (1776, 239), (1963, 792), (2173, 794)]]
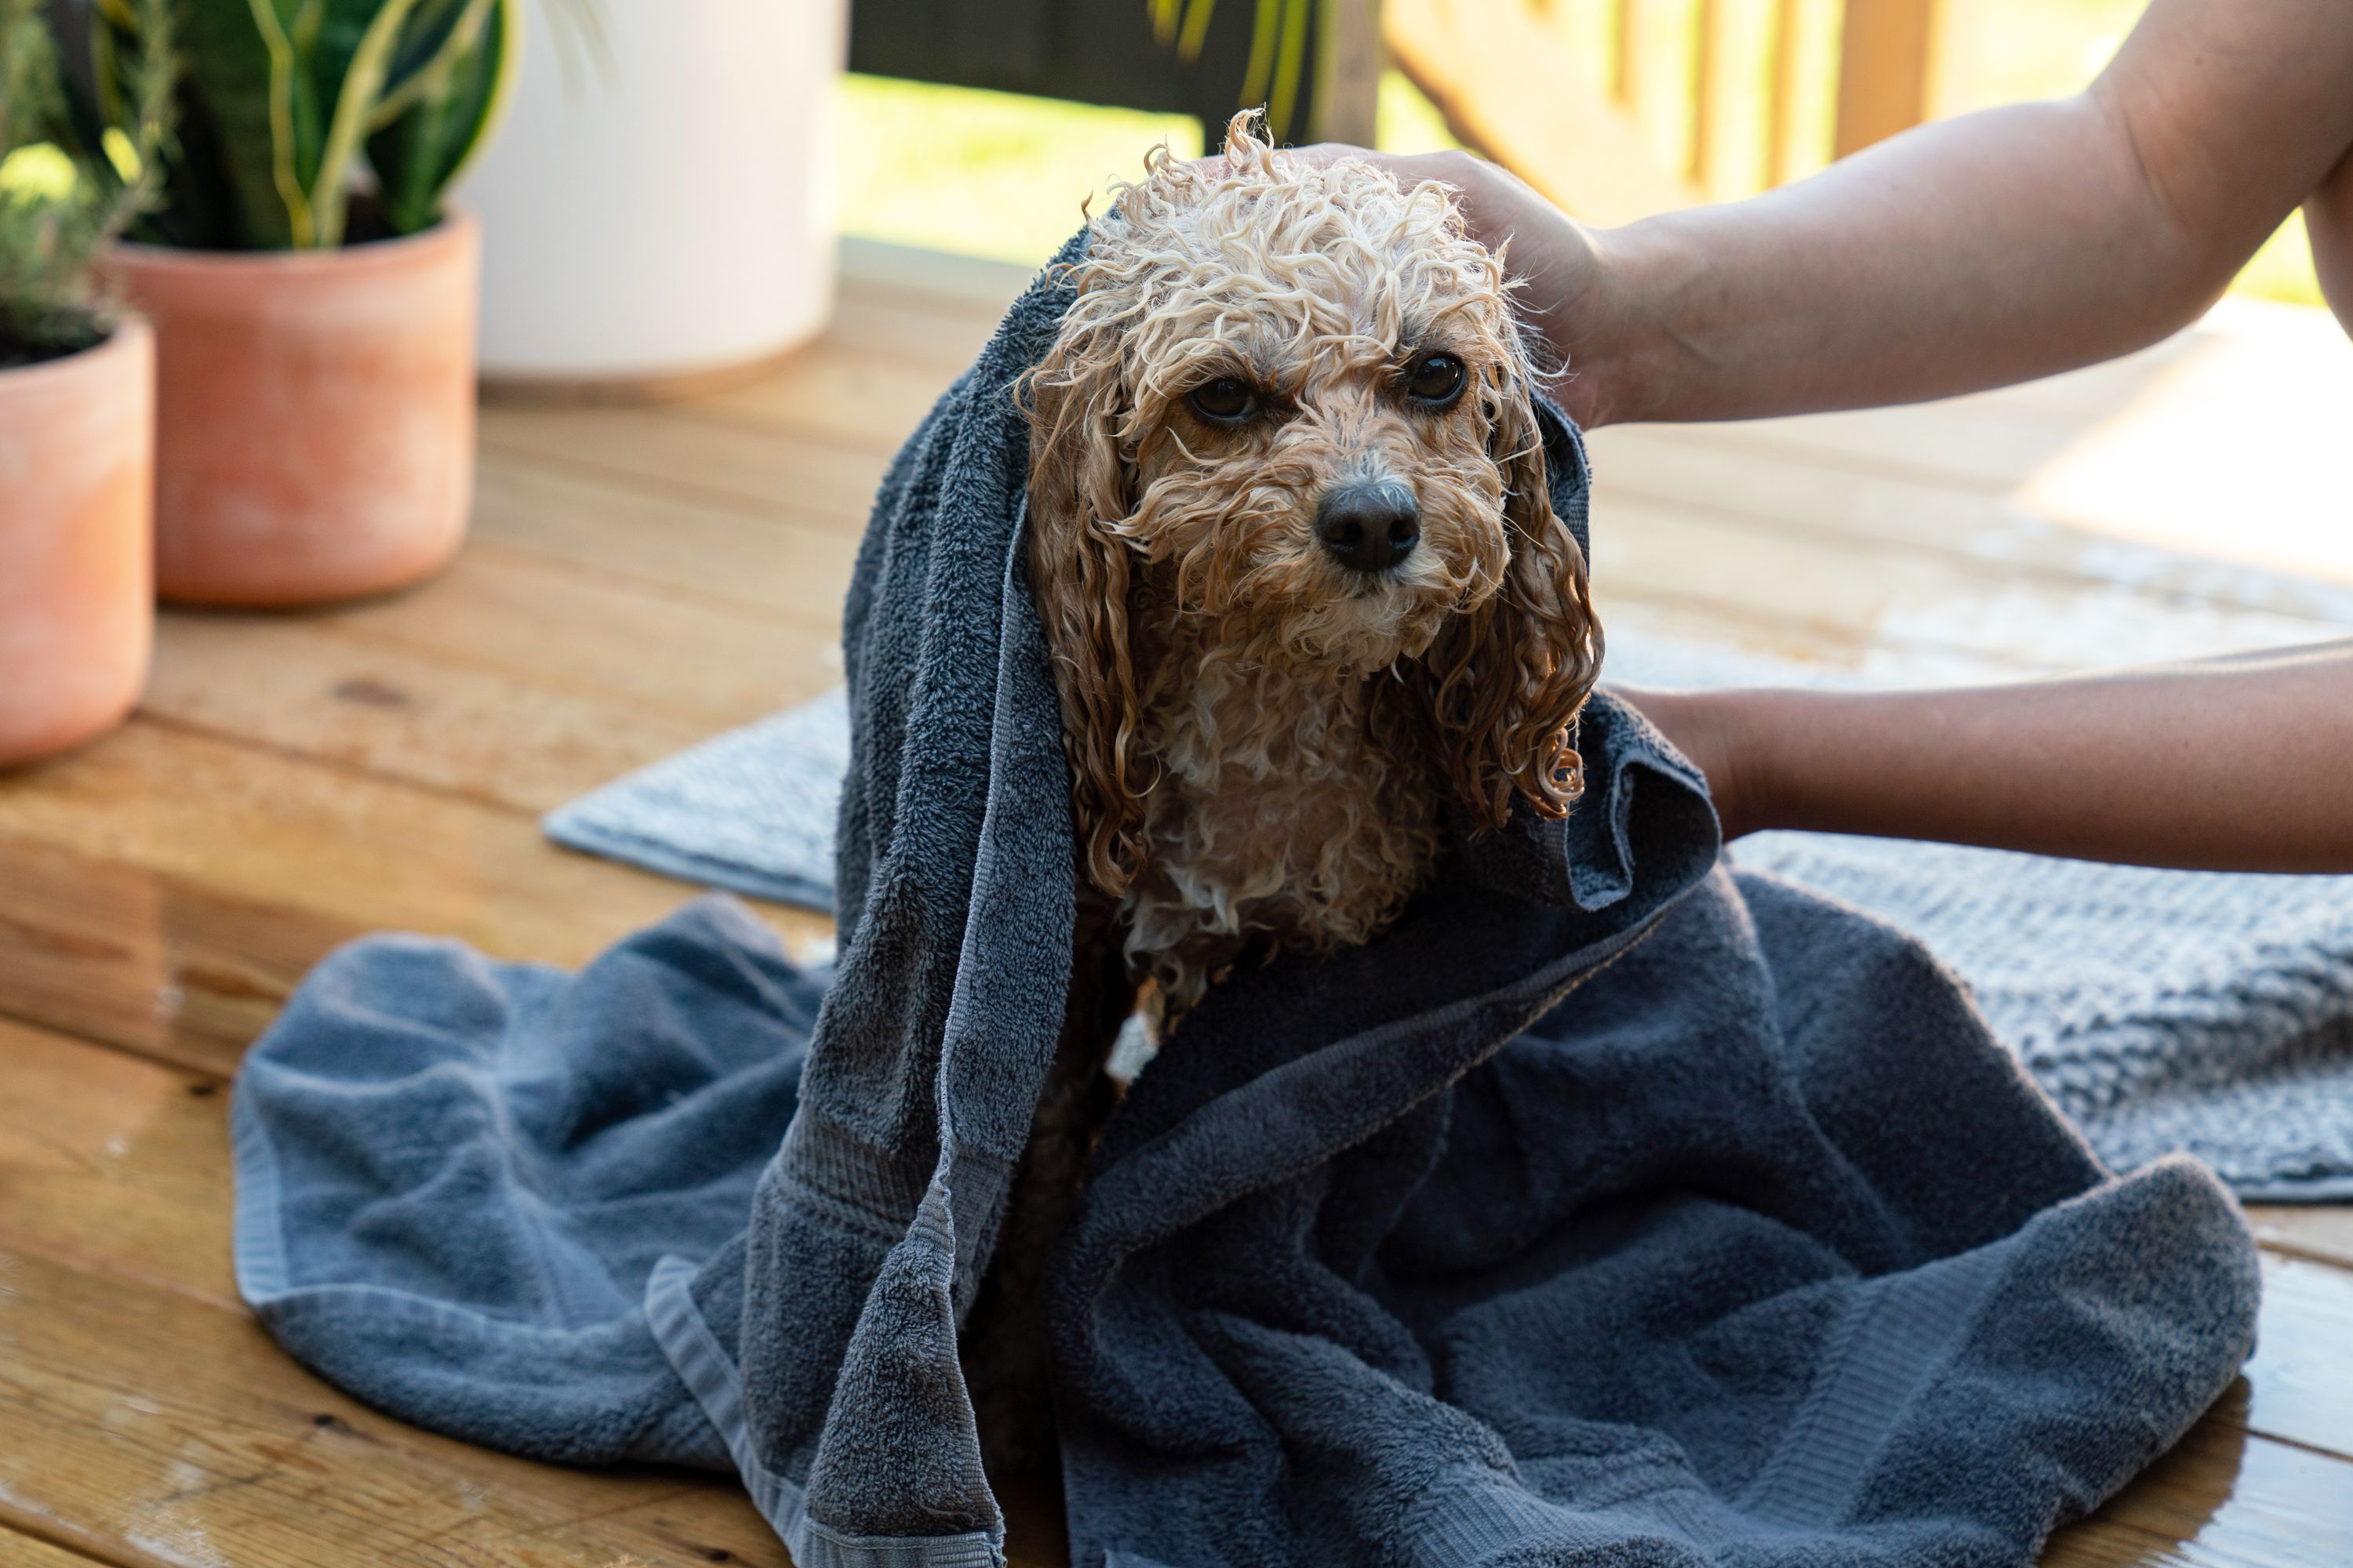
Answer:
[[(1144, 867), (1129, 966), (1181, 1011), (1259, 947), (1377, 936), (1438, 851), (1433, 769), (1405, 686), (1165, 623), (1144, 665)], [(1151, 773), (1148, 773), (1151, 776)]]

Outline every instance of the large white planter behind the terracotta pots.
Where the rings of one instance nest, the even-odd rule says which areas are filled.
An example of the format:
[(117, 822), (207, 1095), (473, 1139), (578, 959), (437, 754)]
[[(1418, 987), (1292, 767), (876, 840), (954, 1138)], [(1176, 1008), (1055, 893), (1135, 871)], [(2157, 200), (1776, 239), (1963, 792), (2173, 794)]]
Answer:
[[(529, 0), (482, 219), (482, 378), (661, 390), (765, 362), (833, 310), (845, 0), (598, 0), (605, 59)], [(574, 28), (576, 33), (576, 28)]]

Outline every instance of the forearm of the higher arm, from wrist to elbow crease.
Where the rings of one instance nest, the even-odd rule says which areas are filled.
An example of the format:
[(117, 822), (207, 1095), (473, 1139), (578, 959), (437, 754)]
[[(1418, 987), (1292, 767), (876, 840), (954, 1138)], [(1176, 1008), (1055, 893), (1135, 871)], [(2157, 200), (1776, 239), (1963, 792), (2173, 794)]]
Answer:
[(1591, 235), (1560, 348), (1598, 423), (1915, 402), (2153, 343), (2264, 233), (2193, 244), (2092, 99), (2019, 103)]

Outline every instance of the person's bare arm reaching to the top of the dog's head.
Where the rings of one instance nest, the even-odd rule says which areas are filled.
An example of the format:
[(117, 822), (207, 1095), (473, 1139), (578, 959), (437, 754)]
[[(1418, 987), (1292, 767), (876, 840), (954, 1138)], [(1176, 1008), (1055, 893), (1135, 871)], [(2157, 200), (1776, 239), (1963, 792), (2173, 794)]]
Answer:
[(1459, 153), (1384, 158), (1504, 242), (1588, 425), (1913, 402), (2195, 320), (2353, 146), (2344, 0), (2155, 0), (2073, 99), (1595, 230)]

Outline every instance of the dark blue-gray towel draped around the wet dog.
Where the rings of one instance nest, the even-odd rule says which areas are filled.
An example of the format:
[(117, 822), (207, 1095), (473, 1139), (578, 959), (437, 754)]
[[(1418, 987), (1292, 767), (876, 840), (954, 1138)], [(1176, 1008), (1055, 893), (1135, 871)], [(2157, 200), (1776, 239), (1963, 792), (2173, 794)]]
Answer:
[[(859, 552), (831, 976), (722, 900), (576, 978), (374, 938), (259, 1041), (240, 1288), (296, 1356), (518, 1453), (732, 1465), (802, 1568), (1000, 1561), (958, 1321), (1071, 966), (1007, 400), (1064, 303)], [(1567, 823), (1219, 985), (1120, 1103), (1040, 1298), (1075, 1561), (2026, 1563), (2247, 1354), (2205, 1168), (2108, 1175), (1918, 945), (1720, 867), (1638, 715), (1579, 745)]]

